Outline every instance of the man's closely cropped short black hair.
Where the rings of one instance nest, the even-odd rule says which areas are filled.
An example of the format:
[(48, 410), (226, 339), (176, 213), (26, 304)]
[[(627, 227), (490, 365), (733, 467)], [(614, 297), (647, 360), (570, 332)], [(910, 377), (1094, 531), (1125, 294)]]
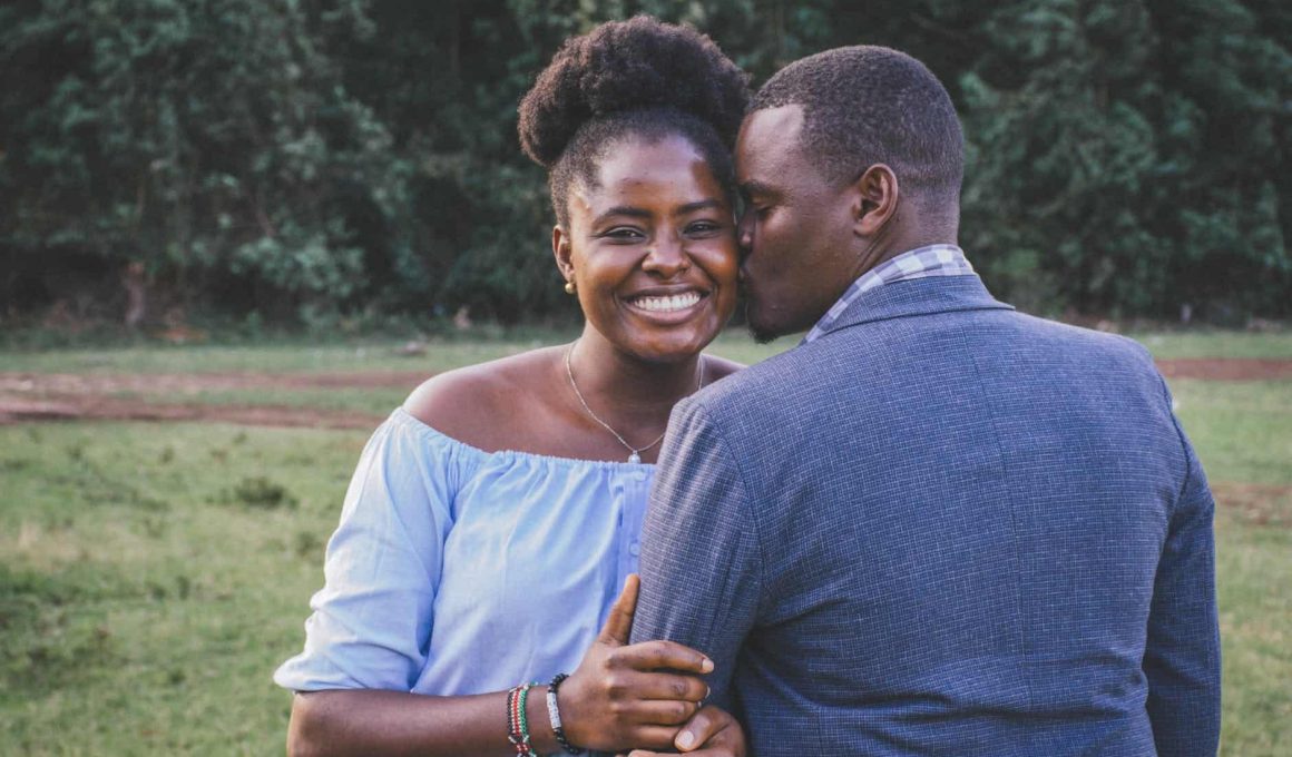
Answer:
[(951, 97), (920, 61), (889, 48), (836, 48), (782, 68), (753, 110), (804, 109), (801, 143), (832, 181), (884, 163), (929, 209), (959, 208), (964, 136)]

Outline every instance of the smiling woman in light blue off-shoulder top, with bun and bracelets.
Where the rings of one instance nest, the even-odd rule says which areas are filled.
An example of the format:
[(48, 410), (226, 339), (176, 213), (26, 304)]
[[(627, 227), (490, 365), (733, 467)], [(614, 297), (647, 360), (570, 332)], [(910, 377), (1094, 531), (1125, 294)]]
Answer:
[(432, 378), (373, 435), (305, 651), (275, 676), (301, 692), (293, 752), (743, 753), (702, 708), (711, 661), (627, 638), (669, 410), (738, 367), (700, 350), (735, 304), (747, 99), (712, 41), (646, 17), (567, 41), (540, 75), (521, 141), (549, 171), (587, 326)]

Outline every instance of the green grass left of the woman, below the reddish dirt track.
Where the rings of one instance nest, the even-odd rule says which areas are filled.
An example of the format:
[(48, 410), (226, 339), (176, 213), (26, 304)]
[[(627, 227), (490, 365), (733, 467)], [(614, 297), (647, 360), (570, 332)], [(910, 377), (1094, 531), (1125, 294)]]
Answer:
[(280, 753), (269, 676), (364, 437), (0, 428), (0, 753)]

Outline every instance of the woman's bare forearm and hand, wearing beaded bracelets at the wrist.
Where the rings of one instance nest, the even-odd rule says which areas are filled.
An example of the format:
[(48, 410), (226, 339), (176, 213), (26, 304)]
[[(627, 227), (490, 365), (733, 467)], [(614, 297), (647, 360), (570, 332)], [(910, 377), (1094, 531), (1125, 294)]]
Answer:
[[(700, 652), (662, 641), (628, 645), (637, 586), (637, 576), (630, 576), (597, 641), (559, 689), (562, 726), (579, 747), (605, 752), (668, 748), (708, 694), (696, 676), (712, 672), (713, 663)], [(559, 752), (545, 686), (530, 690), (526, 713), (534, 749)], [(328, 690), (296, 695), (287, 745), (289, 754), (310, 757), (514, 753), (506, 730), (505, 692), (426, 696)]]

